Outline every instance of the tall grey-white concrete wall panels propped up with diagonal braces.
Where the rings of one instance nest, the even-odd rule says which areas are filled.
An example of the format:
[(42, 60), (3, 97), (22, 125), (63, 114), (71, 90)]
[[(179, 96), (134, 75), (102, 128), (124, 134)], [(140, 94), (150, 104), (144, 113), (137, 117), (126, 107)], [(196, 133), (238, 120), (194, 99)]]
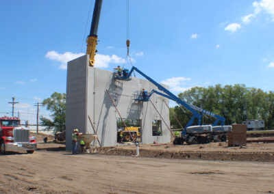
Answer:
[[(84, 81), (86, 83), (83, 83)], [(116, 145), (116, 120), (119, 114), (112, 105), (106, 89), (110, 92), (123, 118), (142, 120), (142, 143), (169, 142), (171, 134), (164, 122), (162, 122), (162, 136), (152, 136), (152, 120), (162, 119), (151, 102), (134, 100), (133, 94), (139, 94), (142, 88), (148, 92), (156, 89), (149, 81), (136, 77), (132, 77), (132, 81), (114, 80), (112, 72), (89, 67), (88, 55), (70, 61), (67, 78), (66, 148), (71, 149), (73, 128), (79, 128), (84, 133), (93, 133), (88, 115), (103, 146)], [(77, 94), (71, 94), (75, 91)], [(79, 99), (78, 105), (77, 99)], [(164, 121), (169, 124), (169, 108), (164, 105), (163, 100), (169, 103), (167, 98), (157, 94), (151, 97), (151, 101)]]

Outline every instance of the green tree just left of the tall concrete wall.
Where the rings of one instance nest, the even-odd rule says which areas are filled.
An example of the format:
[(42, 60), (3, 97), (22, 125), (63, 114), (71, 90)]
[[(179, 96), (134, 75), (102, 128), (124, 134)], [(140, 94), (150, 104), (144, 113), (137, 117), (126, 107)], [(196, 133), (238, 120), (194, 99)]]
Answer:
[(53, 129), (54, 133), (66, 130), (66, 94), (54, 92), (51, 98), (43, 100), (42, 105), (53, 114), (51, 119), (41, 116), (40, 124), (47, 126), (46, 130)]

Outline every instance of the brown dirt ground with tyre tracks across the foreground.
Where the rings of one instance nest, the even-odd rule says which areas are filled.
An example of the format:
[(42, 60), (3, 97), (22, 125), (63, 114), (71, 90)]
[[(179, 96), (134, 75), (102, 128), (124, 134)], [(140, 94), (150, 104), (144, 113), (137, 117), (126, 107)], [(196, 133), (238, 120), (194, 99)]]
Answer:
[[(117, 154), (114, 150), (124, 155), (104, 155)], [(274, 192), (274, 162), (269, 160), (267, 163), (205, 161), (195, 160), (191, 154), (188, 159), (192, 160), (153, 155), (155, 152), (272, 154), (274, 143), (248, 143), (245, 148), (227, 148), (225, 143), (141, 145), (138, 158), (131, 156), (136, 154), (135, 150), (135, 146), (116, 146), (102, 148), (99, 154), (71, 155), (64, 144), (49, 142), (38, 143), (34, 154), (0, 155), (0, 193)]]

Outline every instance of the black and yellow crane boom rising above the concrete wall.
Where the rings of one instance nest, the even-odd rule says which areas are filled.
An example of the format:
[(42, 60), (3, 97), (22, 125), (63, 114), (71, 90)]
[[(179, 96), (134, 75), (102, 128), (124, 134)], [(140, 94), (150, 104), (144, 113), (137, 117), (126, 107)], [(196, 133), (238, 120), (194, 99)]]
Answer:
[(90, 27), (90, 34), (86, 40), (87, 48), (86, 48), (86, 54), (90, 55), (90, 66), (94, 66), (95, 64), (95, 53), (97, 52), (96, 50), (96, 45), (97, 45), (97, 30), (98, 30), (98, 25), (99, 25), (99, 18), (101, 14), (101, 6), (102, 6), (103, 0), (96, 0), (95, 1), (95, 8), (93, 11), (93, 16), (92, 16), (92, 23)]

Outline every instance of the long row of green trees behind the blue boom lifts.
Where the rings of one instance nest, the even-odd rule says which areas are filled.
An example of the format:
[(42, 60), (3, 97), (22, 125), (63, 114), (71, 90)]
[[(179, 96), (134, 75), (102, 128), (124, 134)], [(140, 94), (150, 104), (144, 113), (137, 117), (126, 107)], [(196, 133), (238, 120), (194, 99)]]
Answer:
[[(241, 124), (244, 120), (264, 120), (266, 129), (274, 129), (274, 92), (246, 87), (243, 84), (192, 87), (180, 93), (185, 102), (225, 117), (225, 124)], [(171, 109), (183, 126), (192, 113), (176, 106)], [(171, 126), (181, 128), (170, 113)], [(203, 115), (203, 124), (213, 124), (214, 118)], [(195, 124), (197, 124), (195, 120)]]

